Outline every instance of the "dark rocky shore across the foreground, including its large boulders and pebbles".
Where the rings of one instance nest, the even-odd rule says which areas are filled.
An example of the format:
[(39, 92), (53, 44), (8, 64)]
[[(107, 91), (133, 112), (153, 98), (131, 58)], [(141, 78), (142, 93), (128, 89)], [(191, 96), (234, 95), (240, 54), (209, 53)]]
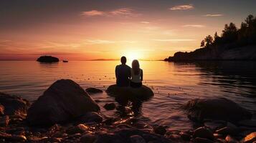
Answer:
[[(104, 108), (122, 108), (116, 105)], [(182, 108), (194, 129), (151, 126), (128, 107), (123, 107), (126, 116), (106, 117), (79, 84), (61, 79), (32, 104), (0, 92), (0, 142), (256, 142), (252, 114), (228, 99), (193, 99)]]

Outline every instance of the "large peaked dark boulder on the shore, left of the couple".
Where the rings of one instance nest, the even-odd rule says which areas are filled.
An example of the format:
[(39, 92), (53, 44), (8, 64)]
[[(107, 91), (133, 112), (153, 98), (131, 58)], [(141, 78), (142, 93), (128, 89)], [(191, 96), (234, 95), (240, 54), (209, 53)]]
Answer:
[(51, 125), (68, 122), (86, 112), (98, 112), (100, 107), (79, 84), (70, 79), (54, 82), (29, 108), (27, 122), (31, 125)]

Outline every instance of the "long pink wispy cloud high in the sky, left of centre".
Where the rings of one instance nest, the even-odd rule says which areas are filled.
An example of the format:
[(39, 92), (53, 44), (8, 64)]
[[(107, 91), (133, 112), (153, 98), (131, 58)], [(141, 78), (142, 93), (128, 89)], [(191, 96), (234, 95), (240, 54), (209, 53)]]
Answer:
[(139, 16), (140, 14), (136, 13), (133, 9), (130, 8), (121, 8), (115, 9), (113, 11), (82, 11), (82, 16)]

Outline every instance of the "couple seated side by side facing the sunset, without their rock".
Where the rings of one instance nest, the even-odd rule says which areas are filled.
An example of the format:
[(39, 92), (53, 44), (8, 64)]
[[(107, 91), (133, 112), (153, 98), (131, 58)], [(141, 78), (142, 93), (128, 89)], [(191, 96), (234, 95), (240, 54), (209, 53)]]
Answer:
[(118, 87), (133, 87), (139, 88), (142, 86), (143, 71), (140, 69), (138, 60), (132, 62), (132, 68), (126, 65), (126, 57), (121, 57), (121, 63), (115, 66), (116, 85)]

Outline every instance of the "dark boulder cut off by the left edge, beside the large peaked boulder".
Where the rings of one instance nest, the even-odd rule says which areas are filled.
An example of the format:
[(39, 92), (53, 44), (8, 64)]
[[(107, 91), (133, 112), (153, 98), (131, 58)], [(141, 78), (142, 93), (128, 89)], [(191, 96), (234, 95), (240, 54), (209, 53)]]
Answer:
[(1, 92), (0, 103), (0, 108), (4, 109), (5, 115), (27, 114), (27, 109), (29, 108), (29, 102), (27, 100)]

